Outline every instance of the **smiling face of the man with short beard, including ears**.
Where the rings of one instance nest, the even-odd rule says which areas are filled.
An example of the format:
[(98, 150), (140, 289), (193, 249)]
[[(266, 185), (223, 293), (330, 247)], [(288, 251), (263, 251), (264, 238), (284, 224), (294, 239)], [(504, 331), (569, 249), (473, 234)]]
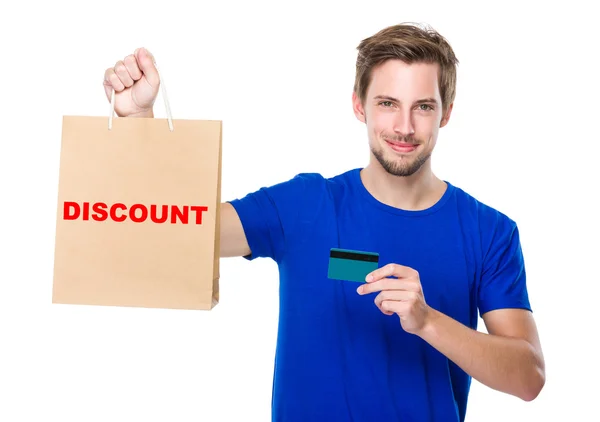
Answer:
[(364, 106), (353, 95), (356, 117), (366, 123), (374, 158), (388, 173), (410, 176), (430, 168), (442, 115), (438, 65), (388, 60), (373, 69)]

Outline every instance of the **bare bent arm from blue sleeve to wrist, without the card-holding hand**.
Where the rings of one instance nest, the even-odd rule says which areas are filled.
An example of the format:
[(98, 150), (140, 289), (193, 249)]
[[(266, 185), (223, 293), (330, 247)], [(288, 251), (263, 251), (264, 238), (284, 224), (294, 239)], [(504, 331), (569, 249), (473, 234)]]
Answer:
[(429, 309), (416, 332), (486, 386), (523, 400), (535, 399), (545, 383), (545, 364), (530, 311), (499, 309), (483, 315), (489, 334)]

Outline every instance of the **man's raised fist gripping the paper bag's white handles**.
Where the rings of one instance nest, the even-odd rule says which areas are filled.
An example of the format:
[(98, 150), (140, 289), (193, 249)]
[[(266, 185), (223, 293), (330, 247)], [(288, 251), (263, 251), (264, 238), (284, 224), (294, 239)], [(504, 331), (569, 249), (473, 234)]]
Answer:
[(115, 113), (120, 117), (154, 117), (152, 107), (160, 79), (152, 54), (138, 48), (104, 72), (104, 90), (110, 102), (115, 90)]

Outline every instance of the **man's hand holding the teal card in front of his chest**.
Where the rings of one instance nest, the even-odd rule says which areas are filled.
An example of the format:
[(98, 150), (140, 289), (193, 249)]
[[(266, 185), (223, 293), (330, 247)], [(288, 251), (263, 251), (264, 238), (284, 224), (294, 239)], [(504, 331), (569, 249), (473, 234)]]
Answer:
[(418, 333), (433, 314), (425, 302), (419, 273), (410, 267), (388, 264), (370, 273), (366, 282), (358, 293), (379, 292), (375, 305), (386, 315), (397, 314), (406, 332)]

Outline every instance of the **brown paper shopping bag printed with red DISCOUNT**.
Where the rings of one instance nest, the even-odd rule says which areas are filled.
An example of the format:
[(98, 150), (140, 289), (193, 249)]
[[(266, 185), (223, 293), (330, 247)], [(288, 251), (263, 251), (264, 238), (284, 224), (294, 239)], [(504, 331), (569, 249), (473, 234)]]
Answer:
[(52, 302), (212, 309), (220, 201), (220, 121), (64, 117)]

